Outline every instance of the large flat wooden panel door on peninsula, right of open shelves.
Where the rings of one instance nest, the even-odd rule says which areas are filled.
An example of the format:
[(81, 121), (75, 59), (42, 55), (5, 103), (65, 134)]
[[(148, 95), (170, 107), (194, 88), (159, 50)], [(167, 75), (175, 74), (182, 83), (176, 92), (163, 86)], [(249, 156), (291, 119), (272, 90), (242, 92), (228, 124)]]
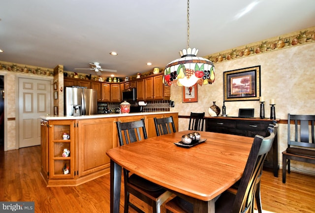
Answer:
[(79, 177), (110, 168), (106, 151), (118, 146), (116, 121), (117, 117), (78, 121)]

